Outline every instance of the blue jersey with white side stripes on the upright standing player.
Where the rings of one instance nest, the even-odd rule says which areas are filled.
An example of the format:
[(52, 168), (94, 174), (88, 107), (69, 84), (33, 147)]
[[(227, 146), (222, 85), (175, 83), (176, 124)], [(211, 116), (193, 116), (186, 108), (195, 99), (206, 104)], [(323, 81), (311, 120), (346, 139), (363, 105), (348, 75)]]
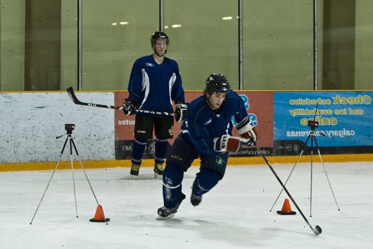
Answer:
[(162, 64), (151, 55), (137, 59), (129, 77), (128, 92), (129, 99), (137, 101), (137, 109), (147, 111), (173, 112), (172, 101), (185, 101), (179, 66), (167, 57)]

